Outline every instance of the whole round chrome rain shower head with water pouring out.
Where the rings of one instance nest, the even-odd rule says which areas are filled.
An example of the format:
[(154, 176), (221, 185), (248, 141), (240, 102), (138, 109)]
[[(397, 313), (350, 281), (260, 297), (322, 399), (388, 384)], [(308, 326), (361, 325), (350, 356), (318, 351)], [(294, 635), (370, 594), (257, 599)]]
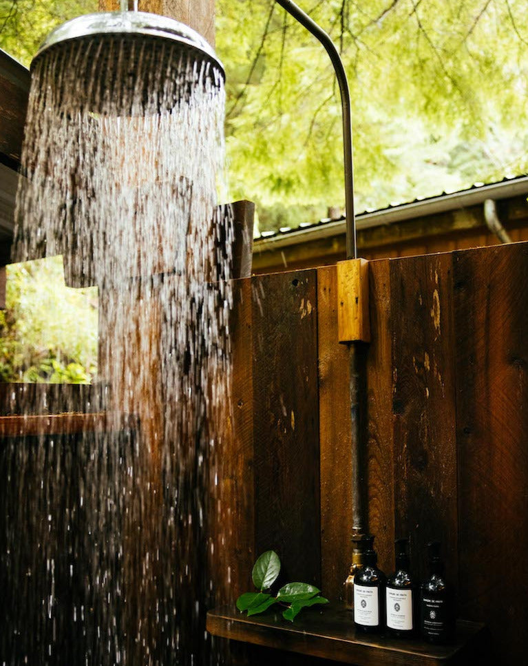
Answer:
[[(195, 83), (218, 87), (225, 80), (222, 63), (198, 32), (174, 19), (138, 11), (85, 14), (63, 23), (48, 35), (31, 63), (32, 72), (45, 67), (57, 83), (65, 76), (80, 78), (79, 96), (94, 112), (108, 91), (127, 100), (127, 90), (137, 92), (139, 85), (145, 98), (155, 88), (160, 96), (165, 83), (181, 79), (186, 67), (196, 71)], [(181, 95), (184, 86), (179, 90)], [(169, 106), (173, 102), (164, 101)]]

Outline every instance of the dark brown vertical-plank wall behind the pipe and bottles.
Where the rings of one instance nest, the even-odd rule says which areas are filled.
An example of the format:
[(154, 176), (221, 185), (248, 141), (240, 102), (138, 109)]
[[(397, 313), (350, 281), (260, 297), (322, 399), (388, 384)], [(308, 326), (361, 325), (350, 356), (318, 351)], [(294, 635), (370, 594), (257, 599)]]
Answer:
[[(368, 521), (379, 563), (392, 570), (394, 538), (410, 536), (423, 576), (425, 544), (440, 539), (459, 615), (487, 623), (511, 666), (528, 647), (527, 285), (527, 243), (370, 263)], [(320, 582), (333, 599), (350, 565), (335, 290), (335, 267), (237, 283), (235, 444), (224, 452), (233, 599), (270, 548), (291, 579)]]

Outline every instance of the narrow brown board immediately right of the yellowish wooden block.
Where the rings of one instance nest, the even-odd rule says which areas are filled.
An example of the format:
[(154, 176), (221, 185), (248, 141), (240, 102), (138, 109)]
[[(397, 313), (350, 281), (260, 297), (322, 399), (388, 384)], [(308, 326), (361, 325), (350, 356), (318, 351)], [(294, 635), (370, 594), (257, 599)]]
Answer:
[(394, 432), (390, 262), (370, 264), (368, 386), (368, 530), (375, 535), (379, 566), (394, 566)]

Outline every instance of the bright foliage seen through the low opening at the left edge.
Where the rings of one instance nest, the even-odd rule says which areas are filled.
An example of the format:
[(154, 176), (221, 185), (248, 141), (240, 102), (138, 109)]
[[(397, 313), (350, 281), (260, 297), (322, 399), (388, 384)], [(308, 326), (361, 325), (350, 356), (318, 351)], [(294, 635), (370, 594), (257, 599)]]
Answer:
[(86, 384), (97, 366), (96, 289), (68, 289), (61, 257), (8, 266), (0, 381)]

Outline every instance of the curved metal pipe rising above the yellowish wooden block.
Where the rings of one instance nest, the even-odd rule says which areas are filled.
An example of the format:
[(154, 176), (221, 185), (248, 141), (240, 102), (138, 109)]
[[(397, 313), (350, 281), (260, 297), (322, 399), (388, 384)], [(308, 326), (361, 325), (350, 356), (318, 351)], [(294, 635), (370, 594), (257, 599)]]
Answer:
[(352, 116), (350, 113), (350, 89), (341, 56), (328, 34), (310, 19), (295, 2), (277, 0), (277, 3), (297, 19), (304, 28), (321, 42), (334, 66), (339, 92), (341, 92), (341, 113), (343, 116), (343, 149), (345, 167), (345, 205), (346, 205), (346, 258), (357, 259), (356, 219), (354, 211), (354, 171), (352, 162)]

